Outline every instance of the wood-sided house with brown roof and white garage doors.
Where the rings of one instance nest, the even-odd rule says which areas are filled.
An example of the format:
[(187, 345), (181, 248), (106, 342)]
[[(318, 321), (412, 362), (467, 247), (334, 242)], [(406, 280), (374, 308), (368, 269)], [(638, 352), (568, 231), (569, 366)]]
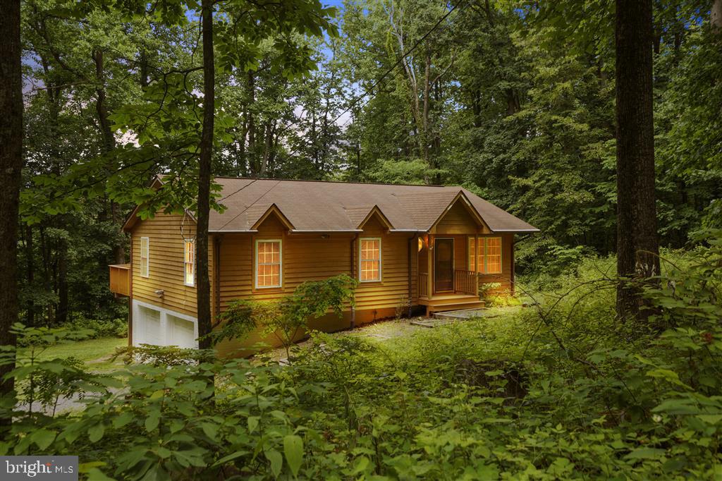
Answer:
[[(461, 187), (216, 181), (227, 209), (209, 222), (213, 316), (232, 300), (272, 300), (342, 273), (360, 281), (355, 311), (315, 329), (391, 317), (399, 306), (479, 307), (480, 284), (513, 293), (514, 236), (538, 232)], [(133, 345), (197, 346), (194, 229), (190, 214), (133, 212), (123, 226), (131, 264), (110, 266), (110, 290), (129, 296)]]

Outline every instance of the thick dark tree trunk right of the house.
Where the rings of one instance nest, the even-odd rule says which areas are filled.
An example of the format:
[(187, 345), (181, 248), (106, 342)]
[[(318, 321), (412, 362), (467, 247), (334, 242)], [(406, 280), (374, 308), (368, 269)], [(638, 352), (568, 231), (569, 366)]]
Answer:
[[(654, 199), (652, 0), (617, 0), (617, 274), (659, 274)], [(620, 282), (617, 315), (645, 318), (638, 289)]]

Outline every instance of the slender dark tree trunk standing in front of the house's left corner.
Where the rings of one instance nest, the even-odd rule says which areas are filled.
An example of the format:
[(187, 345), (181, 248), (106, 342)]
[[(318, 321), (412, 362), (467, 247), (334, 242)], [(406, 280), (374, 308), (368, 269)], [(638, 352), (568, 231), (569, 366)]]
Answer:
[(203, 21), (203, 131), (198, 170), (198, 212), (196, 219), (196, 253), (198, 262), (198, 334), (199, 347), (212, 347), (211, 284), (208, 269), (208, 218), (210, 216), (211, 159), (213, 155), (213, 123), (215, 109), (215, 68), (213, 60), (213, 0), (201, 4)]

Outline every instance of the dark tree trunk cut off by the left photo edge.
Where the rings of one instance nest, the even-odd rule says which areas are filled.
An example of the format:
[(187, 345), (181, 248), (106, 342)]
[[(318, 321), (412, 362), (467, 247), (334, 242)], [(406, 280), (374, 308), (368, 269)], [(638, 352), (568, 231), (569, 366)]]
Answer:
[[(0, 9), (0, 345), (15, 345), (10, 326), (17, 322), (17, 216), (22, 171), (22, 74), (20, 70), (20, 0)], [(2, 377), (14, 363), (0, 366), (0, 396), (14, 389)], [(11, 418), (0, 419), (7, 426)]]

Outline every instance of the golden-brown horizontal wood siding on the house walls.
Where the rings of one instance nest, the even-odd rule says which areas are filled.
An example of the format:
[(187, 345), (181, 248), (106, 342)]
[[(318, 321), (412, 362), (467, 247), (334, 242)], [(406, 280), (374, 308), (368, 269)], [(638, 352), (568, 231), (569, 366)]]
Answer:
[[(196, 316), (196, 287), (183, 284), (183, 239), (181, 238), (181, 215), (157, 215), (154, 219), (139, 221), (131, 230), (132, 293), (133, 297), (146, 303), (173, 311)], [(193, 222), (185, 222), (188, 234), (194, 233)], [(445, 213), (435, 227), (432, 238), (451, 237), (454, 239), (454, 264), (456, 269), (469, 269), (468, 236), (481, 232), (469, 212), (459, 202)], [(492, 234), (501, 236), (501, 274), (479, 277), (479, 283), (500, 282), (497, 292), (510, 291), (512, 278), (511, 261), (513, 234)], [(364, 226), (363, 232), (354, 233), (288, 233), (275, 214), (258, 226), (257, 233), (216, 234), (219, 240), (219, 272), (215, 273), (214, 239), (210, 239), (209, 267), (211, 277), (212, 312), (216, 299), (222, 311), (232, 300), (256, 299), (277, 300), (289, 295), (302, 282), (323, 280), (336, 274), (353, 273), (358, 278), (359, 252), (357, 238), (381, 238), (381, 280), (360, 282), (356, 291), (356, 323), (363, 324), (374, 319), (393, 316), (396, 309), (406, 306), (409, 297), (409, 248), (411, 249), (411, 303), (417, 305), (418, 272), (427, 271), (427, 258), (432, 251), (422, 248), (419, 252), (418, 237), (414, 233), (389, 233), (377, 216)], [(140, 238), (149, 238), (149, 277), (140, 276)], [(479, 234), (479, 237), (484, 235)], [(258, 239), (282, 240), (282, 287), (256, 289), (254, 276), (254, 247)], [(411, 244), (409, 246), (409, 239)], [(419, 269), (420, 268), (420, 269)], [(433, 275), (433, 272), (430, 273)], [(218, 279), (218, 282), (216, 282)], [(216, 286), (217, 284), (217, 286)], [(165, 295), (158, 298), (156, 290)], [(349, 326), (350, 311), (343, 319), (329, 315), (311, 323), (316, 329), (342, 329)], [(264, 341), (277, 345), (274, 337), (262, 339), (253, 334), (244, 345)], [(224, 342), (218, 350), (228, 353), (238, 348), (238, 343)]]

